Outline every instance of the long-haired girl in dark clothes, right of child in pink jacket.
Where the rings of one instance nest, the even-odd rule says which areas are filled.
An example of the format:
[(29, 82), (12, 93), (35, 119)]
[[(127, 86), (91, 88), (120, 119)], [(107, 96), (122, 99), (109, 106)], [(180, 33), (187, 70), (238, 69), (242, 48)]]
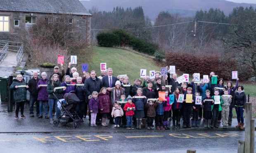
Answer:
[(179, 126), (180, 126), (180, 110), (182, 108), (182, 104), (177, 101), (178, 101), (179, 95), (183, 94), (181, 87), (180, 86), (176, 87), (173, 94), (174, 94), (174, 103), (172, 106), (173, 128), (176, 129), (176, 128), (179, 128)]

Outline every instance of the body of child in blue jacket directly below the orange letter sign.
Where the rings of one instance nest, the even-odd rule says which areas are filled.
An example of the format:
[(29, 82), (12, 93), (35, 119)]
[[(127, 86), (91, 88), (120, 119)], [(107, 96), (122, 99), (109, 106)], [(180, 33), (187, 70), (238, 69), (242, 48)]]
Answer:
[(166, 105), (166, 101), (163, 103), (162, 100), (158, 100), (158, 105), (156, 107), (156, 130), (165, 130), (163, 127), (163, 118), (164, 118), (164, 105)]

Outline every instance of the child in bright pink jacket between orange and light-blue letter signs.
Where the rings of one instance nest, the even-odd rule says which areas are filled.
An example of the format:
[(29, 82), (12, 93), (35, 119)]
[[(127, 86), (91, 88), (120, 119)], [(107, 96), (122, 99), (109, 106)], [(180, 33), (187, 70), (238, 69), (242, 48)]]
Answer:
[(169, 116), (169, 112), (171, 111), (171, 105), (173, 103), (170, 104), (169, 102), (170, 100), (169, 100), (168, 91), (165, 90), (165, 102), (164, 102), (165, 105), (164, 105), (164, 119), (163, 119), (163, 125), (165, 130), (170, 129), (168, 116)]

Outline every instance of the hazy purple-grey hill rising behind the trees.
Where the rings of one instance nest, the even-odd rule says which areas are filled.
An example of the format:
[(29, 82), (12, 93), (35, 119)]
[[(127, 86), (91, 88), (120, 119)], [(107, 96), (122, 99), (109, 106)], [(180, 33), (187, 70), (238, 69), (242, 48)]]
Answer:
[(226, 15), (232, 12), (234, 7), (256, 7), (256, 4), (235, 3), (226, 0), (81, 0), (86, 9), (97, 7), (99, 11), (112, 11), (114, 7), (142, 6), (144, 14), (149, 19), (156, 19), (161, 11), (171, 14), (179, 13), (182, 16), (194, 16), (197, 10), (209, 10), (211, 7), (219, 8)]

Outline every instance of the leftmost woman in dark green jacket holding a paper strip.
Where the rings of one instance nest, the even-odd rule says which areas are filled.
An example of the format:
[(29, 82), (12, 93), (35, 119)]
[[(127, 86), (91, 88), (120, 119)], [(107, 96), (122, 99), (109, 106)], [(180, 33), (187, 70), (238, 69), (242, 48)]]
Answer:
[(26, 118), (23, 113), (28, 86), (23, 80), (23, 76), (21, 74), (17, 75), (16, 79), (13, 79), (10, 89), (13, 90), (14, 101), (16, 103), (15, 119), (19, 119), (19, 108), (21, 109), (21, 118)]

